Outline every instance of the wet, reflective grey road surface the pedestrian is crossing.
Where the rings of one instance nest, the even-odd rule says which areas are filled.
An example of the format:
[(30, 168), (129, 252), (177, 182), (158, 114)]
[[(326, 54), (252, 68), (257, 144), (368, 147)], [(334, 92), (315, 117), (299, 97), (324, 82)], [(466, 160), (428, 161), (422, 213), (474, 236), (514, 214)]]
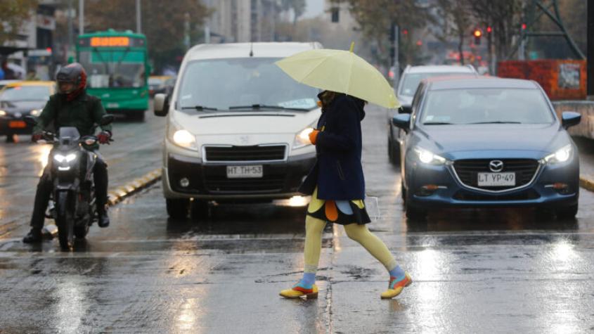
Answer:
[[(112, 226), (93, 226), (74, 252), (60, 252), (57, 240), (23, 245), (37, 182), (28, 165), (39, 167), (39, 154), (31, 155), (39, 148), (3, 143), (0, 333), (594, 330), (593, 193), (582, 190), (573, 221), (536, 220), (531, 210), (456, 210), (409, 224), (399, 171), (385, 153), (385, 112), (368, 109), (363, 160), (368, 194), (380, 198), (382, 212), (370, 229), (414, 280), (395, 300), (380, 300), (385, 269), (340, 226), (323, 236), (318, 300), (278, 296), (302, 269), (299, 203), (215, 205), (209, 219), (175, 221), (156, 184), (112, 208)], [(103, 150), (115, 182), (160, 164), (162, 120), (118, 123), (124, 132), (120, 148)], [(143, 152), (131, 149), (138, 147)]]

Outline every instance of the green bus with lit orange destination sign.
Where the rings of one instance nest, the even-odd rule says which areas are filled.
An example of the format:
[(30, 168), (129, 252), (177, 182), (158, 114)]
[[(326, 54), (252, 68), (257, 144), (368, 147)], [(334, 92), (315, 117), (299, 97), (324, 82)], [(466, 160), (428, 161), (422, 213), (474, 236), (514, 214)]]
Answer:
[(82, 34), (76, 56), (86, 70), (87, 92), (101, 98), (108, 113), (144, 119), (150, 66), (143, 34), (112, 29)]

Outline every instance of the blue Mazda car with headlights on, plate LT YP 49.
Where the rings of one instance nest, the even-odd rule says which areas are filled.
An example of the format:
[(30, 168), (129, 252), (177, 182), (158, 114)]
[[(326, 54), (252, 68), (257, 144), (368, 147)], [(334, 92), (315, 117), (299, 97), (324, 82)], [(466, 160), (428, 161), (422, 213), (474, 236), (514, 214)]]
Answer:
[(530, 206), (575, 217), (578, 150), (534, 81), (489, 77), (428, 79), (411, 113), (394, 116), (402, 195), (409, 220), (443, 207)]

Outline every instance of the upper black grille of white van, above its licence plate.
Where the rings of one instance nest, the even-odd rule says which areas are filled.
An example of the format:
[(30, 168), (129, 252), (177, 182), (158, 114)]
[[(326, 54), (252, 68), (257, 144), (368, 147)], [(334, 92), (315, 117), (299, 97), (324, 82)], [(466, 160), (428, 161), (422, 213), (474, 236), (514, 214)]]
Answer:
[(285, 160), (286, 145), (206, 146), (207, 162)]

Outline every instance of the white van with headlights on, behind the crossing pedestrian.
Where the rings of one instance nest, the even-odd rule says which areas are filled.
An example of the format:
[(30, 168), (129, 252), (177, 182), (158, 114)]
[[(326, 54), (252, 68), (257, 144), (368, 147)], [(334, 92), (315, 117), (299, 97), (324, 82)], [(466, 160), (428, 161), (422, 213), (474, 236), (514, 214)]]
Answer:
[(297, 195), (314, 165), (308, 134), (321, 109), (318, 89), (274, 63), (319, 43), (202, 44), (186, 53), (171, 96), (155, 95), (167, 116), (163, 194), (169, 217), (208, 201), (272, 200)]

